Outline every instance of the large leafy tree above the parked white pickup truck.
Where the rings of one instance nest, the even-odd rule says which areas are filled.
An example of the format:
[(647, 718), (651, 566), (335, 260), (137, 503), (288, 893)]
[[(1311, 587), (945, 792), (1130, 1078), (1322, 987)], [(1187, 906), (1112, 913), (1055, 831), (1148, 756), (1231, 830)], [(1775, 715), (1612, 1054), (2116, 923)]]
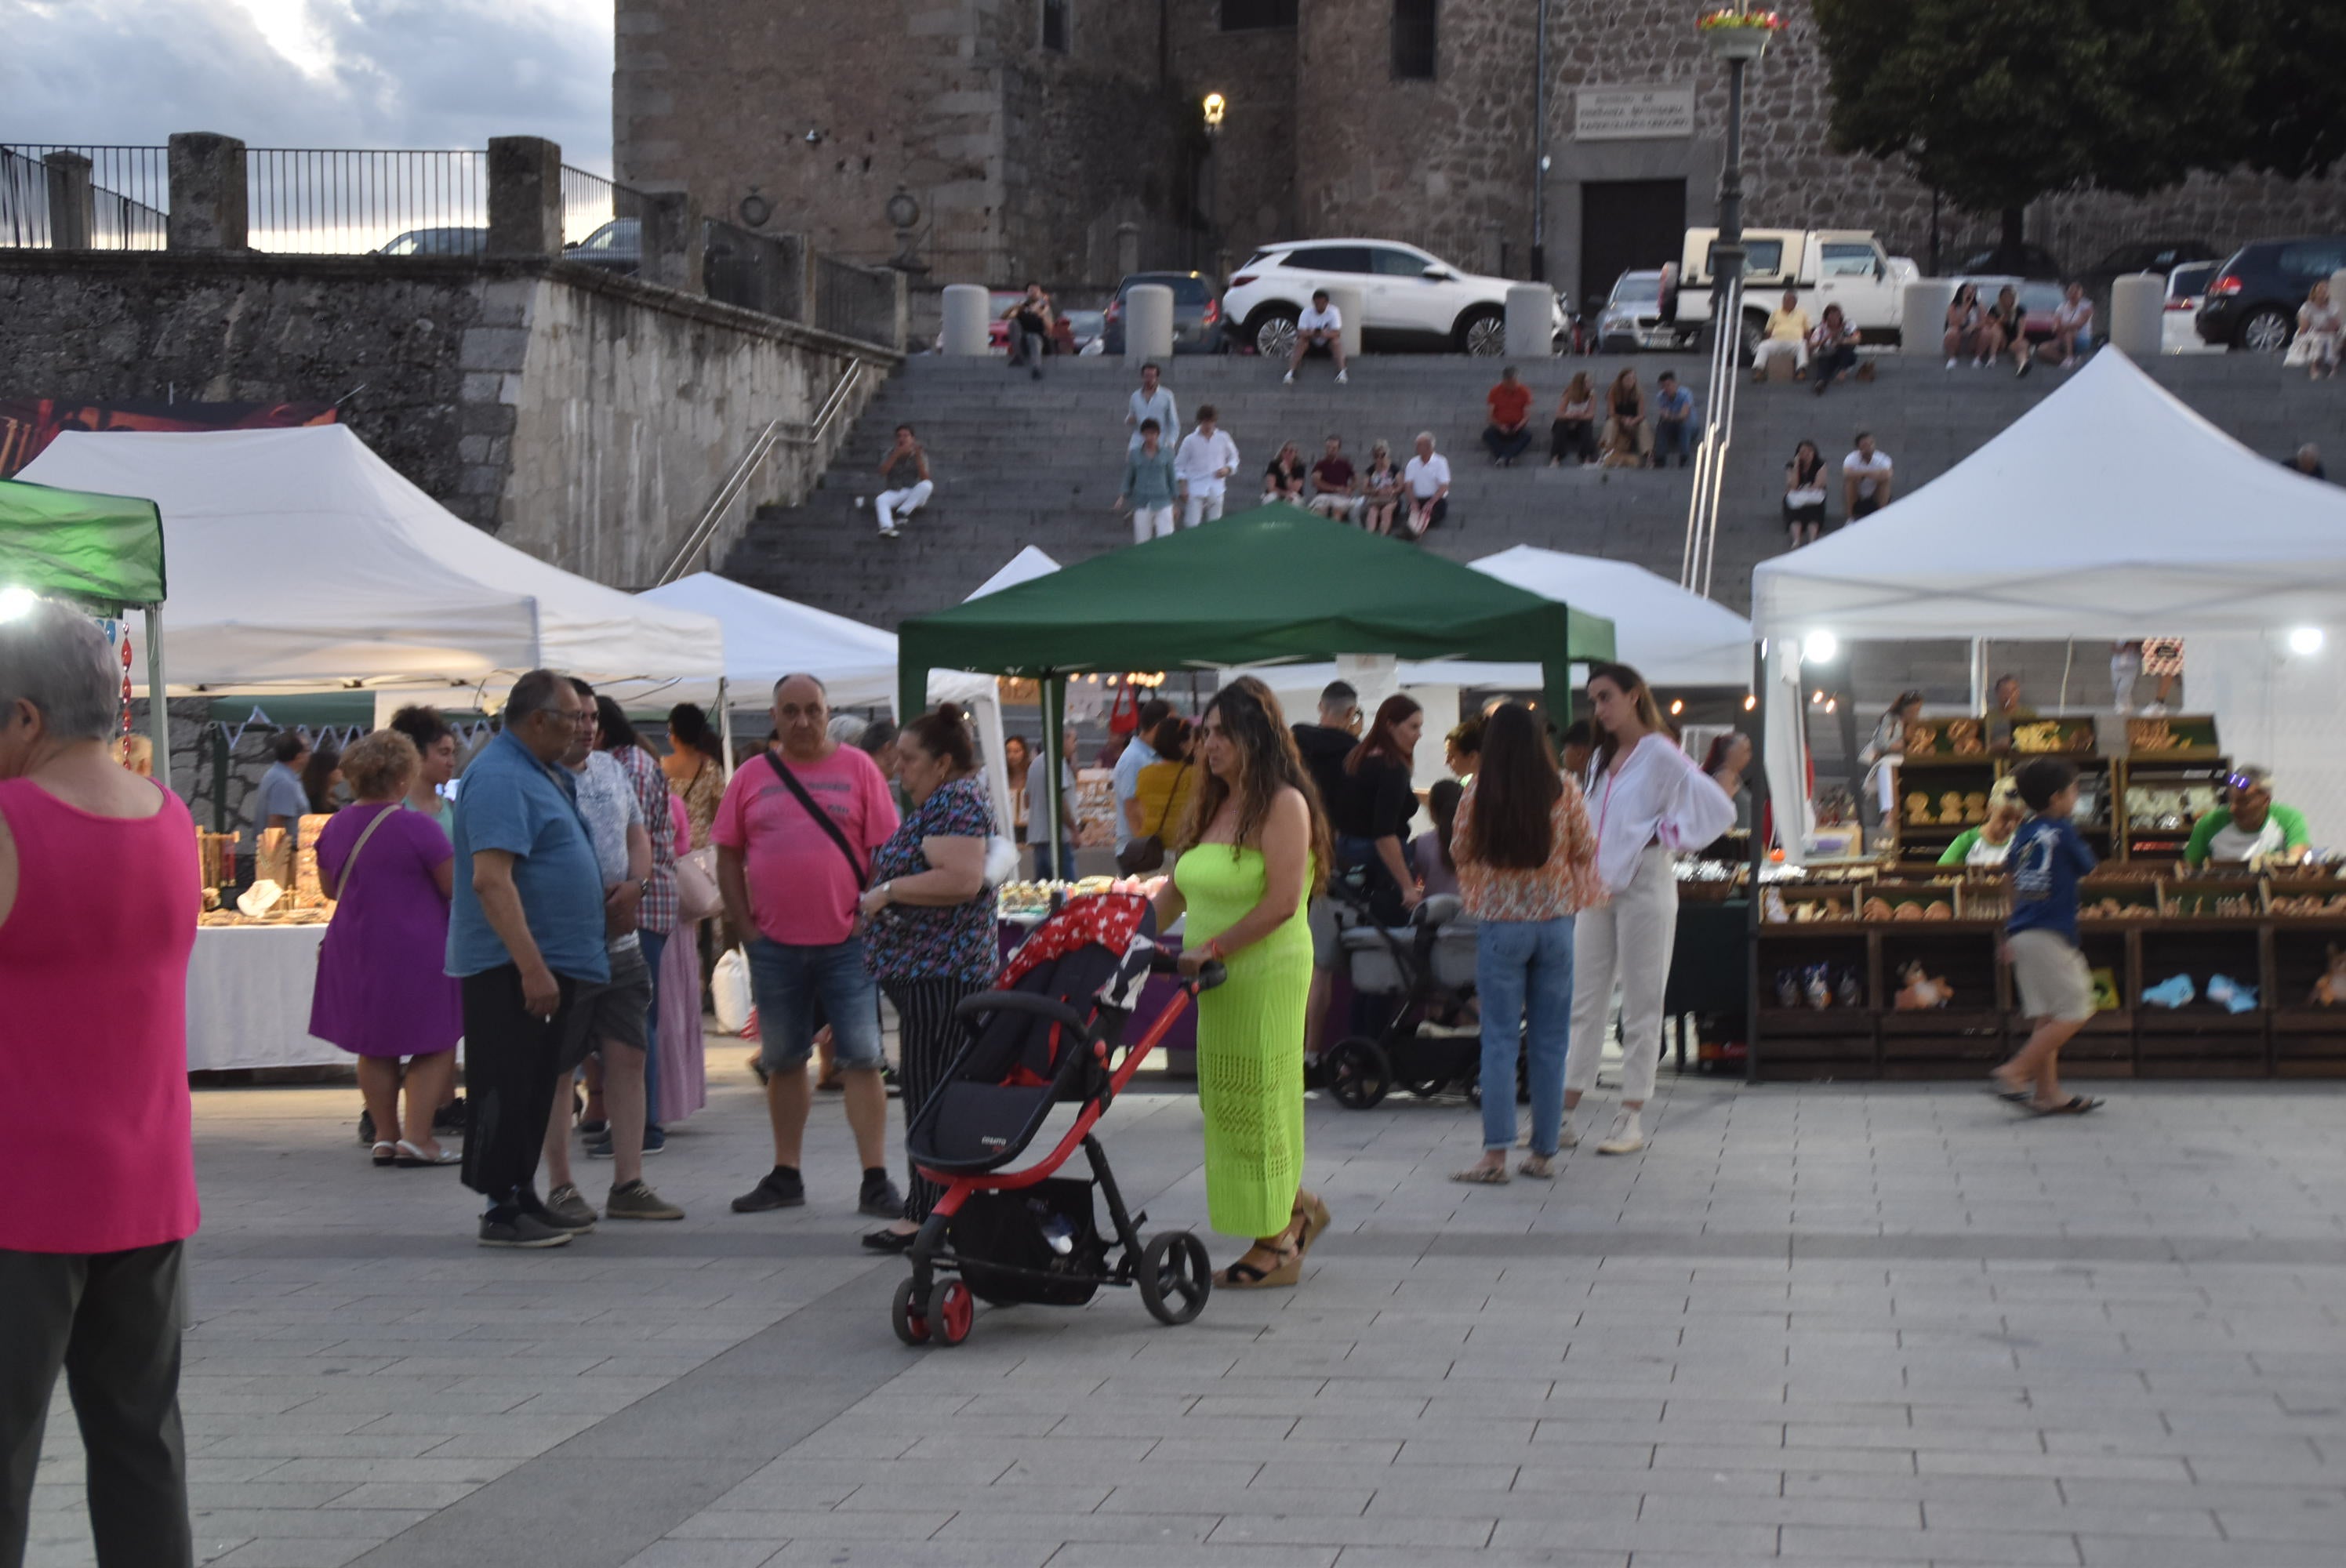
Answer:
[[(2264, 0), (2278, 5), (2280, 0)], [(2076, 185), (2147, 195), (2231, 167), (2250, 45), (2210, 0), (1813, 0), (1832, 146), (1903, 157), (1954, 204), (2022, 211)], [(2311, 68), (2311, 66), (2308, 66)]]

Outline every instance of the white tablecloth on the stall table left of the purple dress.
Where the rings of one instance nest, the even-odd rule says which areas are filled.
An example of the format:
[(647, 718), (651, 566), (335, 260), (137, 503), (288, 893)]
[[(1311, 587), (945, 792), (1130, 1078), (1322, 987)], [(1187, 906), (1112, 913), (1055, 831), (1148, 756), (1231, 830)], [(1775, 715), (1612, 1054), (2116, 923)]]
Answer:
[(352, 1054), (310, 1033), (324, 925), (206, 925), (188, 960), (188, 1070), (307, 1068)]

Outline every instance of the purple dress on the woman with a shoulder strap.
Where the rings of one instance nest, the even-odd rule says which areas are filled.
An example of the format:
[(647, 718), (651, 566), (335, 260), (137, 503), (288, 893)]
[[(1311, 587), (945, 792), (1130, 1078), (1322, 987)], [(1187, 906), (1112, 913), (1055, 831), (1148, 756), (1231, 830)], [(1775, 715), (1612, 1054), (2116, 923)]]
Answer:
[[(359, 836), (385, 815), (366, 852)], [(465, 1012), (448, 965), (448, 899), (434, 871), (453, 857), (436, 822), (399, 805), (345, 805), (317, 838), (317, 873), (343, 899), (317, 948), (310, 1033), (359, 1056), (455, 1049)]]

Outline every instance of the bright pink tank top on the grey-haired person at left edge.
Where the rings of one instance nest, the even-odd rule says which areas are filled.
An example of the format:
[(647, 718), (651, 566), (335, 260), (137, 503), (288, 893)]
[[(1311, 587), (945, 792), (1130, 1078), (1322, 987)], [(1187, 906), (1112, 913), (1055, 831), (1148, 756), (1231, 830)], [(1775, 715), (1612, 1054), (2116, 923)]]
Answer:
[[(157, 786), (160, 789), (160, 786)], [(195, 1232), (188, 953), (195, 822), (91, 817), (0, 782), (0, 1249), (127, 1251)]]

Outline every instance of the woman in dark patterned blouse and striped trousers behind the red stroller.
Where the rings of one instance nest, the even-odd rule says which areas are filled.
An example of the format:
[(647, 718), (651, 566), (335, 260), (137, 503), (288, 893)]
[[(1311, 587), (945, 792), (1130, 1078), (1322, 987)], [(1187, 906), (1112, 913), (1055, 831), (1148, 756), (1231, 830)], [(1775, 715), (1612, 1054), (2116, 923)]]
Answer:
[[(873, 854), (873, 887), (863, 894), (863, 962), (896, 1007), (896, 1075), (910, 1122), (962, 1047), (952, 1009), (985, 991), (1002, 953), (995, 944), (995, 899), (985, 887), (995, 810), (978, 779), (969, 725), (950, 704), (922, 714), (903, 728), (896, 763), (913, 810)], [(903, 1218), (866, 1235), (866, 1246), (906, 1251), (913, 1244), (938, 1185), (915, 1169), (906, 1192)]]

